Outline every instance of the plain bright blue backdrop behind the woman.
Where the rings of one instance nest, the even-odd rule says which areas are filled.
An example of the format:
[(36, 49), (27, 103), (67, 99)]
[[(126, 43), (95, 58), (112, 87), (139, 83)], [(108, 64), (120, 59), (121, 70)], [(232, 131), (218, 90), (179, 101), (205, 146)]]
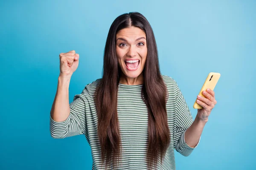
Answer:
[(92, 167), (84, 136), (52, 139), (49, 113), (61, 52), (76, 50), (79, 67), (70, 102), (102, 76), (113, 20), (130, 11), (151, 23), (161, 73), (174, 78), (195, 118), (195, 98), (209, 72), (221, 73), (218, 101), (201, 142), (177, 170), (256, 168), (256, 1), (6, 1), (0, 2), (1, 170)]

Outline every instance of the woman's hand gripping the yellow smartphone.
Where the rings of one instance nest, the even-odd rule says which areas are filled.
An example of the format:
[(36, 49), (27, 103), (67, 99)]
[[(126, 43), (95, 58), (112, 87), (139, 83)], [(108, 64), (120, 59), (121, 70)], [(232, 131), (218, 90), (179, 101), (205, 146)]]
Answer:
[(216, 105), (217, 101), (215, 100), (215, 94), (214, 91), (211, 89), (207, 89), (207, 91), (203, 91), (203, 95), (205, 96), (198, 96), (197, 97), (197, 103), (198, 105), (201, 105), (203, 108), (198, 109), (197, 116), (200, 118), (202, 121), (208, 121), (208, 117)]

